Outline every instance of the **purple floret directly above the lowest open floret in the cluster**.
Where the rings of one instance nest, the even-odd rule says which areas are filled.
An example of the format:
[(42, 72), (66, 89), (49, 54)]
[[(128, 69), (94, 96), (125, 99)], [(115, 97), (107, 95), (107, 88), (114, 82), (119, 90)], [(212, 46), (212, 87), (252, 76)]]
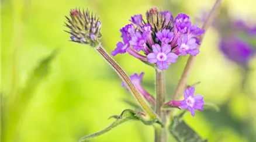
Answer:
[(166, 29), (158, 31), (157, 38), (162, 42), (162, 44), (168, 44), (174, 39), (174, 32), (171, 32)]

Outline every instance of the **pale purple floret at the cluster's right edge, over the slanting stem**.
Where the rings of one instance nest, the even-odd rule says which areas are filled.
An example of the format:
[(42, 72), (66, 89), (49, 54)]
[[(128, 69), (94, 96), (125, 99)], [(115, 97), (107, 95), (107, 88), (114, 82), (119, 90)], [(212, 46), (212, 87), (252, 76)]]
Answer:
[(196, 56), (197, 54), (199, 54), (196, 38), (189, 38), (188, 34), (184, 34), (181, 38), (178, 39), (178, 45), (179, 52), (183, 56), (185, 56), (186, 54), (190, 54), (192, 56)]

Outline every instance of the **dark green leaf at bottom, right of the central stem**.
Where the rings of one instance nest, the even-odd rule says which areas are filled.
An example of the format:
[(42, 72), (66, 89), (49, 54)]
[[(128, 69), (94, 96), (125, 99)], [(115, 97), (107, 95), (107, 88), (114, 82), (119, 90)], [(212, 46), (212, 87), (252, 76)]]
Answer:
[(169, 132), (179, 142), (205, 142), (191, 127), (189, 127), (182, 116), (185, 111), (178, 116), (174, 116), (171, 125), (169, 125)]

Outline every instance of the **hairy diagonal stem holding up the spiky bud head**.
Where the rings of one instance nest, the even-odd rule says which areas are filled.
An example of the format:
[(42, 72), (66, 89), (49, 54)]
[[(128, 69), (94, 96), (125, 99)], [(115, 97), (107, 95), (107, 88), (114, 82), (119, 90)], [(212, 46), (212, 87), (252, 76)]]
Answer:
[(127, 84), (127, 88), (129, 91), (133, 94), (134, 98), (139, 102), (141, 108), (144, 109), (148, 113), (151, 119), (158, 119), (159, 117), (157, 114), (146, 104), (146, 101), (143, 100), (143, 97), (139, 93), (139, 91), (136, 89), (132, 81), (130, 80), (129, 76), (123, 71), (123, 69), (116, 63), (116, 61), (99, 45), (98, 48), (96, 48), (96, 51), (99, 52), (103, 56), (103, 58), (106, 60), (106, 62), (109, 63), (109, 65), (116, 71), (116, 73), (120, 76), (120, 78)]

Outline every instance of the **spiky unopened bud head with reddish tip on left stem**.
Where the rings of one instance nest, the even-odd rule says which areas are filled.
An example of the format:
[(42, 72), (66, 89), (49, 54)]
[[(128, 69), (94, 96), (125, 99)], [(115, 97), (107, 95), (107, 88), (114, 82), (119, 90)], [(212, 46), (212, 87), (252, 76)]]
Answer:
[(93, 15), (89, 10), (86, 11), (74, 9), (70, 11), (70, 18), (67, 18), (67, 26), (70, 31), (67, 33), (71, 34), (71, 41), (78, 42), (81, 44), (89, 44), (92, 47), (96, 47), (99, 44), (99, 38), (101, 37), (101, 22), (96, 19), (96, 15)]

